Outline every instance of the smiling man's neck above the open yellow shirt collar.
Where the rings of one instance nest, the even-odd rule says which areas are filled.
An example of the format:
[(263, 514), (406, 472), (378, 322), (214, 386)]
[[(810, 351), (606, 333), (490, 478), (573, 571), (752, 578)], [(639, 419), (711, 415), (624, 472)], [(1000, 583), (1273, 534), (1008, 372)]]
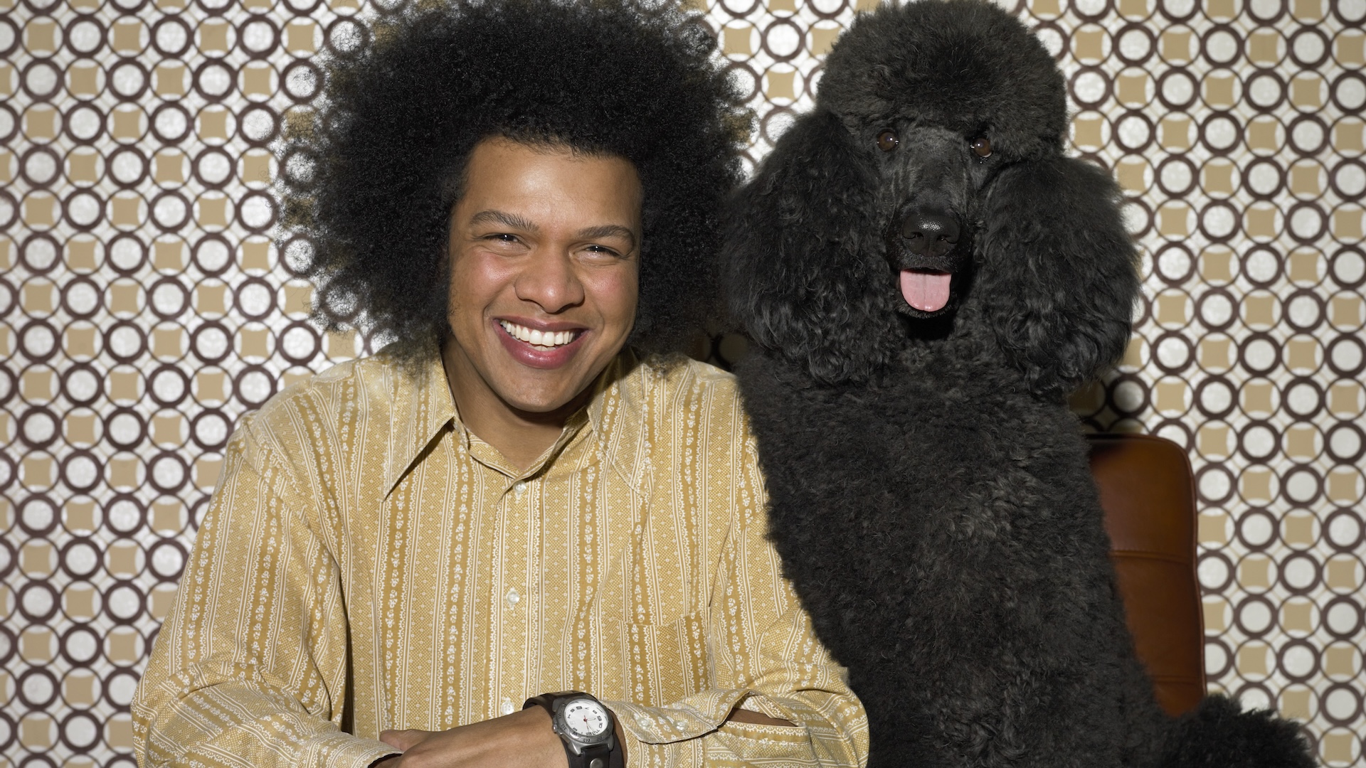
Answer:
[(570, 417), (591, 396), (589, 388), (553, 411), (518, 410), (488, 387), (479, 385), (478, 372), (454, 347), (449, 340), (441, 346), (441, 361), (460, 421), (520, 470), (530, 467), (555, 444)]

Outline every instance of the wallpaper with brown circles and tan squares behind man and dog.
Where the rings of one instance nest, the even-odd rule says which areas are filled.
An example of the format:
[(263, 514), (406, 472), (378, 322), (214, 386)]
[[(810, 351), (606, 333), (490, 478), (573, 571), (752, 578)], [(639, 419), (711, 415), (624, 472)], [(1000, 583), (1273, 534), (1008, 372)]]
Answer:
[[(402, 1), (402, 0), (398, 0)], [(690, 0), (759, 118), (873, 0)], [(1076, 395), (1190, 451), (1212, 687), (1366, 764), (1366, 0), (1004, 0), (1068, 75), (1145, 251)], [(131, 763), (128, 701), (235, 420), (363, 354), (270, 239), (313, 59), (393, 0), (0, 0), (0, 754)], [(740, 354), (736, 338), (713, 353)]]

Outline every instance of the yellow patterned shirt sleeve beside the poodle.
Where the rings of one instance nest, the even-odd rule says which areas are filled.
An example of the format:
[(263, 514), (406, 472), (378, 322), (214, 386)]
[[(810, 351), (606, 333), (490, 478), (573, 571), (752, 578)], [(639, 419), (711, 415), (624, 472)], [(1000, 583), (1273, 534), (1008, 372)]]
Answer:
[[(867, 764), (867, 716), (843, 667), (816, 638), (810, 618), (765, 538), (768, 518), (753, 443), (740, 436), (732, 534), (716, 568), (708, 646), (717, 687), (664, 707), (605, 702), (622, 720), (627, 768)], [(734, 708), (795, 723), (727, 722)]]

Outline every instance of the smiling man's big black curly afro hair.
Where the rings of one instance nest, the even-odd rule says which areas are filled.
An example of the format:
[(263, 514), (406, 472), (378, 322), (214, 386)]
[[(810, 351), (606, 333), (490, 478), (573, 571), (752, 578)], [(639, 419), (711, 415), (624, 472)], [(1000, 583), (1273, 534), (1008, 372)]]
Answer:
[[(653, 7), (652, 7), (653, 5)], [(474, 0), (380, 19), (324, 61), (316, 118), (281, 152), (285, 236), (317, 314), (406, 358), (447, 328), (447, 238), (470, 152), (501, 135), (630, 160), (645, 189), (631, 343), (661, 350), (714, 312), (717, 215), (747, 112), (714, 40), (645, 0)]]

